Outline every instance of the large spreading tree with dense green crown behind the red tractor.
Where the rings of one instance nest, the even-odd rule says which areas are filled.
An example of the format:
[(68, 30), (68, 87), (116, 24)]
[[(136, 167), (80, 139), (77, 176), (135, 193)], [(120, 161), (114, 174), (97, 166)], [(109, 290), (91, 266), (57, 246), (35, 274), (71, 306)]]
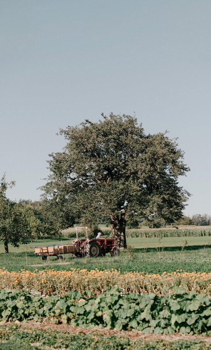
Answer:
[(167, 222), (182, 216), (188, 192), (178, 176), (189, 170), (175, 139), (146, 135), (135, 117), (102, 114), (60, 130), (67, 144), (50, 154), (45, 196), (69, 203), (76, 217), (109, 218), (119, 247), (126, 247), (128, 217), (156, 215)]

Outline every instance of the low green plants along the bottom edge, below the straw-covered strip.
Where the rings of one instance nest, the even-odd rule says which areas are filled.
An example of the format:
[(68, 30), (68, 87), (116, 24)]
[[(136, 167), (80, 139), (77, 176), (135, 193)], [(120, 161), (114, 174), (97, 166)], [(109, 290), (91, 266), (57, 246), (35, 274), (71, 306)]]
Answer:
[(203, 339), (136, 339), (126, 335), (102, 335), (99, 330), (85, 334), (56, 329), (23, 327), (22, 325), (3, 325), (0, 327), (1, 350), (208, 350), (210, 343)]

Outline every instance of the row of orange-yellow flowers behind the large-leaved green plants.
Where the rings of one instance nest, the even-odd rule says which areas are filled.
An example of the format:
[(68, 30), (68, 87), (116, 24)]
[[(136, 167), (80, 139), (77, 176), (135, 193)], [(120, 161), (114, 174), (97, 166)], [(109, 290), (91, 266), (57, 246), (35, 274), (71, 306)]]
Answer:
[(42, 294), (57, 292), (64, 294), (71, 290), (82, 292), (91, 290), (98, 295), (108, 287), (121, 288), (126, 293), (155, 293), (163, 295), (171, 293), (173, 286), (182, 286), (185, 292), (194, 290), (197, 293), (211, 295), (211, 273), (163, 272), (160, 274), (144, 274), (142, 272), (121, 273), (120, 270), (74, 269), (55, 271), (45, 269), (34, 272), (21, 270), (9, 272), (0, 269), (0, 288), (27, 289)]

